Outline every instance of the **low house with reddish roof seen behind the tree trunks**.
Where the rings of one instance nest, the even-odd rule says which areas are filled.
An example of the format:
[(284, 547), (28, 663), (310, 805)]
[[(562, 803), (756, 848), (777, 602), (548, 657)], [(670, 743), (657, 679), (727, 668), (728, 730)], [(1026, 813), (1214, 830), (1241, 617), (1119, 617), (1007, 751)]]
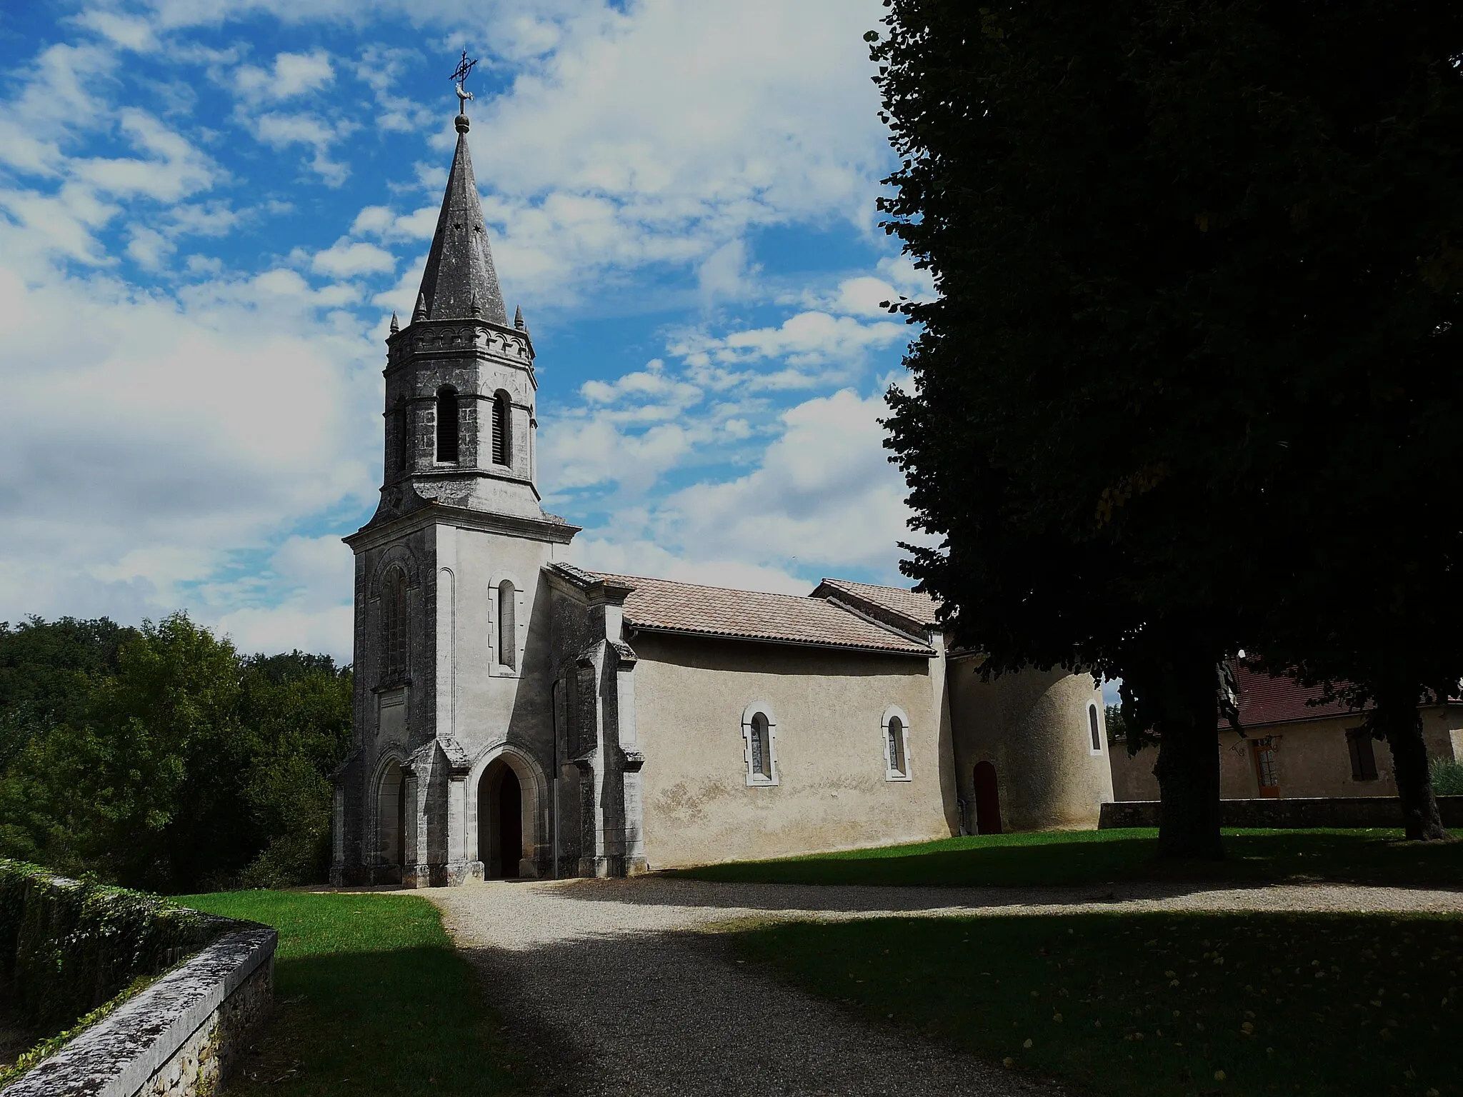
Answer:
[[(1257, 797), (1396, 796), (1391, 752), (1362, 730), (1365, 711), (1340, 702), (1314, 705), (1320, 687), (1235, 668), (1241, 736), (1219, 725), (1219, 794)], [(1428, 758), (1463, 758), (1463, 704), (1426, 705), (1422, 734)], [(1118, 800), (1157, 800), (1156, 746), (1128, 755), (1112, 747), (1112, 787)]]

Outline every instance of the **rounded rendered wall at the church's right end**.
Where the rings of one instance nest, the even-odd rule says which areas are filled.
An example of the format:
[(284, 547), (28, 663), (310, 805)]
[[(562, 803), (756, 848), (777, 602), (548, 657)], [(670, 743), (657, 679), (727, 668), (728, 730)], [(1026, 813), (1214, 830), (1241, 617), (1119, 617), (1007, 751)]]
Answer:
[[(1097, 826), (1113, 799), (1102, 693), (1090, 674), (1026, 670), (982, 682), (976, 658), (949, 663), (955, 774), (974, 831), (974, 766), (996, 768), (1001, 822), (1008, 831)], [(1087, 706), (1099, 714), (1091, 749)]]

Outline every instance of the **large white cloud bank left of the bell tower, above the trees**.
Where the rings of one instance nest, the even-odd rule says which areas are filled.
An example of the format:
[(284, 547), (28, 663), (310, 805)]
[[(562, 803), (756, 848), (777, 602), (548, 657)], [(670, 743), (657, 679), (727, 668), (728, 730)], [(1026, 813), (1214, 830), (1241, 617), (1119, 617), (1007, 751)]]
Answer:
[[(237, 554), (373, 496), (375, 347), (291, 271), (171, 298), (22, 274), (23, 233), (0, 224), (0, 617), (268, 603), (219, 579)], [(329, 616), (300, 591), (338, 572), (309, 559), (287, 546), (268, 582)]]

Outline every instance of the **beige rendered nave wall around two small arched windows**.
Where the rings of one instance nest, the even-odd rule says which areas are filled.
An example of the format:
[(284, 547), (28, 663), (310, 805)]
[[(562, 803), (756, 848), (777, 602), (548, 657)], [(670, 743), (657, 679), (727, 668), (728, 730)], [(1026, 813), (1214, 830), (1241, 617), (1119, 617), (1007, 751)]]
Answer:
[[(636, 633), (635, 706), (652, 869), (948, 837), (938, 660)], [(742, 717), (777, 723), (778, 784), (748, 787)], [(881, 717), (909, 715), (909, 781)]]

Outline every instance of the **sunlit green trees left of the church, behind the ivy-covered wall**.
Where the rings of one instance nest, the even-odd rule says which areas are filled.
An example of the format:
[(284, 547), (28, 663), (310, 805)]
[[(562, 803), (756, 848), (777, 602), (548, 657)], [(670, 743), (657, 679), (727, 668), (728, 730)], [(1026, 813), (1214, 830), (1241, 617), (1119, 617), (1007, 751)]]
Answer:
[(0, 679), (0, 712), (47, 714), (4, 758), (0, 853), (162, 891), (320, 878), (348, 670), (240, 657), (183, 614), (32, 620), (3, 639), (53, 687)]

